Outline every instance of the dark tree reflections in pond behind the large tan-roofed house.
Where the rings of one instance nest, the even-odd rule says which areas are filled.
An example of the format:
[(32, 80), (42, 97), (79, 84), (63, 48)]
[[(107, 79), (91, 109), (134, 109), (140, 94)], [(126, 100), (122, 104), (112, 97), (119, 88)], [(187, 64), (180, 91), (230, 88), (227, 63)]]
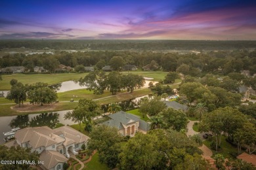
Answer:
[(60, 122), (58, 120), (60, 114), (57, 112), (45, 112), (38, 114), (37, 116), (33, 116), (30, 120), (29, 115), (19, 115), (16, 118), (13, 118), (9, 124), (12, 128), (14, 127), (38, 127), (38, 126), (48, 126), (52, 129), (56, 127), (56, 125)]

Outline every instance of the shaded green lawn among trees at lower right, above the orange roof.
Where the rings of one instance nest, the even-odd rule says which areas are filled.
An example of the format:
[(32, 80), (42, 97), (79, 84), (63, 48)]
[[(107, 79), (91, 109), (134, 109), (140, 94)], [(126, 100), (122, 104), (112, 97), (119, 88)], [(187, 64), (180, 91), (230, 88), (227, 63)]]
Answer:
[[(213, 156), (215, 154), (222, 154), (224, 156), (224, 158), (234, 159), (233, 155), (235, 155), (237, 152), (236, 146), (232, 146), (230, 143), (226, 142), (225, 138), (226, 137), (224, 137), (224, 136), (221, 137), (221, 148), (219, 149), (218, 152), (211, 149), (211, 141), (205, 140), (205, 141), (203, 141), (203, 144), (205, 144), (205, 146), (207, 146), (208, 148), (211, 149), (211, 151), (213, 152)], [(213, 140), (215, 140), (215, 137), (213, 137)]]

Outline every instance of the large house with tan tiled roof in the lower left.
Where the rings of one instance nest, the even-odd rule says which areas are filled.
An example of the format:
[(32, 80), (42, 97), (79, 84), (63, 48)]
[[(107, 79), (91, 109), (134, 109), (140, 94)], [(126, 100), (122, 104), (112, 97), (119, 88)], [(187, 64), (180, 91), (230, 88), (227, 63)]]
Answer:
[(14, 137), (15, 141), (5, 144), (6, 146), (20, 145), (31, 148), (31, 152), (37, 151), (39, 160), (44, 162), (42, 169), (63, 169), (63, 164), (74, 154), (78, 154), (83, 144), (87, 144), (89, 137), (76, 131), (70, 126), (62, 126), (51, 129), (47, 126), (26, 127), (18, 130)]

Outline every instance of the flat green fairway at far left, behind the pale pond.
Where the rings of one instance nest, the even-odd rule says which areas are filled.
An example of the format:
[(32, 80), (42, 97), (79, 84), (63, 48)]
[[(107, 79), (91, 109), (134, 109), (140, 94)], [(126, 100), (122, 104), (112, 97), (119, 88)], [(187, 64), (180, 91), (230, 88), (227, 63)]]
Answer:
[(58, 73), (58, 74), (13, 74), (13, 75), (2, 75), (3, 80), (0, 81), (0, 90), (10, 90), (10, 81), (12, 78), (22, 82), (23, 84), (33, 84), (35, 82), (46, 82), (48, 84), (56, 84), (58, 82), (64, 82), (68, 80), (78, 80), (84, 77), (88, 73)]

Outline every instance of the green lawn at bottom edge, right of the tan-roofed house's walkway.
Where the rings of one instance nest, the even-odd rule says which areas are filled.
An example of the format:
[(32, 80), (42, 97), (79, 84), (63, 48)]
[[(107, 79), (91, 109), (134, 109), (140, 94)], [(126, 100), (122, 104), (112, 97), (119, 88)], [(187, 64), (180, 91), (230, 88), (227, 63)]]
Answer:
[(93, 155), (91, 161), (89, 161), (88, 163), (85, 163), (84, 169), (105, 170), (105, 169), (110, 169), (110, 168), (108, 168), (106, 164), (100, 163), (98, 161), (98, 152), (96, 152), (96, 154)]

